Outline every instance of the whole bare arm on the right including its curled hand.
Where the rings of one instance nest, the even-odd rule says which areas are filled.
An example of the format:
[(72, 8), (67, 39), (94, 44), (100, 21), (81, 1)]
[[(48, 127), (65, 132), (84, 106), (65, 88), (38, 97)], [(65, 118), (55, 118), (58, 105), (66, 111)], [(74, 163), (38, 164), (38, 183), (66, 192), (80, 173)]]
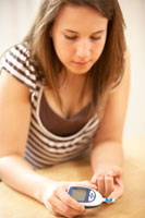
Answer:
[[(120, 197), (123, 192), (123, 185), (121, 182), (123, 162), (122, 134), (129, 87), (130, 57), (128, 52), (123, 78), (117, 89), (109, 95), (105, 114), (100, 129), (95, 137), (94, 148), (92, 152), (92, 167), (94, 171), (92, 182), (97, 184), (98, 190), (102, 195), (110, 195), (109, 197), (114, 198)], [(117, 181), (118, 178), (120, 181)], [(120, 183), (120, 189), (118, 189), (118, 183)]]

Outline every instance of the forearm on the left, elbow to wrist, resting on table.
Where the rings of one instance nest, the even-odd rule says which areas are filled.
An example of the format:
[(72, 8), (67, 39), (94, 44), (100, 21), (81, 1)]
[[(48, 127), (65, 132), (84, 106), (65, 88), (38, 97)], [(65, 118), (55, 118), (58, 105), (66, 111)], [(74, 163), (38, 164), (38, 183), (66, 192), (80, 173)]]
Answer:
[(51, 180), (38, 174), (23, 157), (0, 158), (0, 178), (11, 187), (41, 202), (41, 193)]

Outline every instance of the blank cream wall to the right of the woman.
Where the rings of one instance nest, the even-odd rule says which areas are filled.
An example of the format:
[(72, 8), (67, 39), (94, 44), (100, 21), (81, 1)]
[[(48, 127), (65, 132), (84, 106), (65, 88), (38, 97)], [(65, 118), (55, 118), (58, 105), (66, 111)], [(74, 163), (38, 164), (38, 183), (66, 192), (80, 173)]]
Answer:
[(131, 92), (124, 137), (145, 135), (145, 0), (119, 0), (131, 52)]

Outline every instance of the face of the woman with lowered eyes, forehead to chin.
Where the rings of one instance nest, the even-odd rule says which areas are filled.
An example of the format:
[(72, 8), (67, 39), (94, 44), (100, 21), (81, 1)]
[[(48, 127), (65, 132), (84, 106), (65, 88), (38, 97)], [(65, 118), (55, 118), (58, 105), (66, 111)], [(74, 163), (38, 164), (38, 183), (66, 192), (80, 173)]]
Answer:
[(106, 43), (108, 20), (89, 7), (61, 8), (51, 37), (68, 73), (85, 74), (99, 59)]

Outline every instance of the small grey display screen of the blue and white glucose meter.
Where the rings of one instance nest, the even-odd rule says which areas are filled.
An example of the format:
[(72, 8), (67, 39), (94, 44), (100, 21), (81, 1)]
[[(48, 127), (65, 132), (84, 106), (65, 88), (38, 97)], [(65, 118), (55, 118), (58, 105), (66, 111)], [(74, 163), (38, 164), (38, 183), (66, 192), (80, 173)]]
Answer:
[(76, 201), (85, 201), (87, 190), (85, 189), (73, 189), (72, 197)]

